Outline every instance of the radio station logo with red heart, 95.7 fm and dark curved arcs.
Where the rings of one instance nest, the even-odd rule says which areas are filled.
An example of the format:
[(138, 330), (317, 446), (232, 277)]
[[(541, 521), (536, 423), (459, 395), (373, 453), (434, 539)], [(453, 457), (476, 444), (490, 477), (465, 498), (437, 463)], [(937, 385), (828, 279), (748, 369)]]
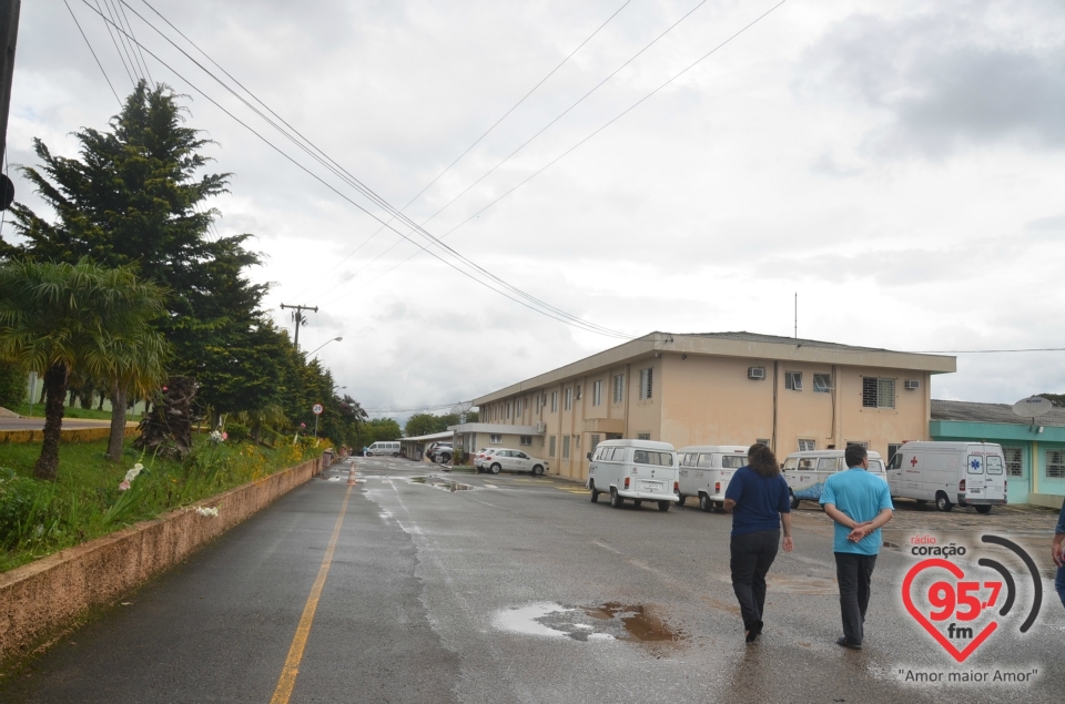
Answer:
[[(933, 535), (912, 538), (911, 554), (923, 559), (902, 582), (906, 611), (958, 663), (1015, 624), (1027, 633), (1043, 604), (1043, 581), (1032, 555), (1000, 535), (981, 535), (980, 541), (980, 554), (991, 557), (972, 564), (976, 555), (965, 545), (944, 545)], [(1014, 572), (1024, 574), (1023, 584), (1031, 579), (1032, 588), (1018, 590)]]

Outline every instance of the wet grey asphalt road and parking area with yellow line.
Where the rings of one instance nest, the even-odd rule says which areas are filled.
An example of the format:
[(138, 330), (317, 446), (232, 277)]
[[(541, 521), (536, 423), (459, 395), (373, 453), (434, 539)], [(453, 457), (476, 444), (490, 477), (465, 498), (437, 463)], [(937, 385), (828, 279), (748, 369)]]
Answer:
[[(764, 634), (748, 645), (728, 580), (726, 514), (693, 501), (665, 513), (611, 509), (552, 478), (359, 462), (351, 492), (346, 466), (334, 466), (57, 643), (8, 677), (0, 701), (1062, 701), (1065, 610), (1044, 580), (1043, 610), (1022, 635), (1023, 569), (1014, 613), (957, 664), (902, 604), (916, 559), (888, 549), (866, 647), (843, 650), (831, 526), (803, 508), (797, 551), (771, 572)], [(927, 530), (975, 540), (992, 527), (1045, 552), (1054, 524), (1038, 511), (984, 522), (913, 506), (899, 513), (892, 544)], [(301, 631), (316, 581), (313, 622)], [(297, 671), (288, 700), (284, 686), (278, 694), (293, 682), (286, 662)], [(1032, 670), (1026, 683), (905, 681)]]

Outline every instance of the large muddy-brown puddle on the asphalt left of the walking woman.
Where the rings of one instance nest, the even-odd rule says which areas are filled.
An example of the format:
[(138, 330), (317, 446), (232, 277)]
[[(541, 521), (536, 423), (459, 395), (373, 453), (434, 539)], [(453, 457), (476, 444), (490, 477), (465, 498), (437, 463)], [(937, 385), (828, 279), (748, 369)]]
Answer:
[(496, 612), (493, 625), (511, 633), (565, 636), (581, 642), (673, 643), (684, 640), (683, 635), (655, 615), (653, 608), (618, 602), (601, 606), (564, 606), (556, 603), (511, 606)]

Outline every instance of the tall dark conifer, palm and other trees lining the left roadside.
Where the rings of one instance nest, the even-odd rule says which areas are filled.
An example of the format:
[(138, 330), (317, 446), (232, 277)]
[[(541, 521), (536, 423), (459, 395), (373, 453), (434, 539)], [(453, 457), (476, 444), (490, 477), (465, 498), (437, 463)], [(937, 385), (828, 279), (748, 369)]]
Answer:
[(203, 173), (212, 142), (186, 125), (178, 98), (141, 81), (108, 129), (74, 133), (77, 157), (36, 139), (40, 163), (20, 167), (51, 212), (16, 203), (21, 241), (0, 241), (0, 392), (24, 389), (29, 370), (43, 378), (41, 478), (55, 476), (71, 389), (111, 399), (115, 461), (131, 396), (158, 400), (170, 377), (195, 380), (210, 427), (260, 441), (312, 428), (314, 404), (324, 406), (320, 435), (334, 442), (374, 431), (263, 309), (268, 286), (247, 277), (263, 263), (253, 235), (213, 231), (220, 213), (207, 203), (232, 174)]

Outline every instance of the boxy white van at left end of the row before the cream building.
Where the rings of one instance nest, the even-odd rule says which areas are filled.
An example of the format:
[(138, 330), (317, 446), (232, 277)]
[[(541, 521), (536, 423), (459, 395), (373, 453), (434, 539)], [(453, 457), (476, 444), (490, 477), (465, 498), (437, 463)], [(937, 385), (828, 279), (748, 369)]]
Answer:
[(616, 509), (631, 499), (637, 507), (658, 501), (658, 510), (668, 511), (677, 500), (677, 453), (669, 442), (605, 440), (588, 459), (591, 466), (585, 486), (591, 489), (592, 503), (600, 493), (609, 493)]

